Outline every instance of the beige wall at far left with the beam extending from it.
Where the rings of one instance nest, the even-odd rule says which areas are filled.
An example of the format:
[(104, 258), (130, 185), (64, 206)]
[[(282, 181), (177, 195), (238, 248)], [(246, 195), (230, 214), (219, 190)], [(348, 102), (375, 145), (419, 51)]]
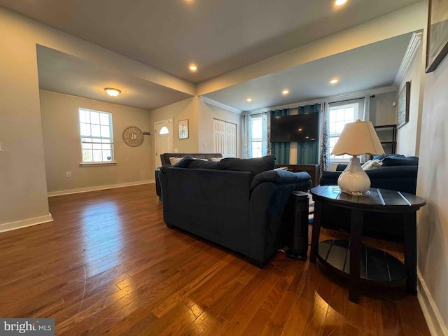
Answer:
[(0, 39), (0, 231), (51, 220), (36, 44), (195, 94), (193, 83), (3, 8)]

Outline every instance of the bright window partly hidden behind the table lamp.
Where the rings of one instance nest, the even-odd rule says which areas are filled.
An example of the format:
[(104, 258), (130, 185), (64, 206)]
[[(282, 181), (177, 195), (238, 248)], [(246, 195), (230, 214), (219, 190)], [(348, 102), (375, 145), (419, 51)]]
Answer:
[[(346, 123), (353, 123), (356, 119), (359, 119), (359, 104), (344, 104), (338, 106), (331, 106), (329, 108), (329, 120), (328, 120), (328, 140), (330, 142), (330, 153), (332, 152), (339, 135)], [(333, 161), (347, 161), (351, 158), (351, 155), (330, 155), (330, 160)]]

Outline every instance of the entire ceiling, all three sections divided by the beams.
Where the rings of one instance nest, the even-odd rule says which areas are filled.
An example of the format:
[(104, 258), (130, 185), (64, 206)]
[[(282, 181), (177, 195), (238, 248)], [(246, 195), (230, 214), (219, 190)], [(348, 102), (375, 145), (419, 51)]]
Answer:
[[(201, 83), (419, 1), (349, 0), (339, 8), (333, 0), (0, 0), (0, 6), (192, 83)], [(398, 45), (384, 41), (376, 47), (358, 48), (345, 56), (295, 66), (211, 92), (207, 97), (251, 110), (293, 102), (292, 99), (301, 102), (333, 95), (327, 91), (339, 94), (353, 88), (360, 90), (360, 85), (390, 85), (391, 76), (398, 70), (399, 54), (401, 60), (406, 49), (405, 37), (398, 39)], [(393, 62), (381, 63), (379, 50), (392, 57)], [(347, 77), (330, 87), (331, 91), (312, 80), (303, 81), (315, 69), (320, 73), (325, 69), (328, 74), (338, 69), (350, 70), (350, 63), (344, 62), (346, 57), (354, 59), (359, 55), (369, 57), (365, 63), (356, 64), (362, 80), (361, 76), (356, 80), (354, 74), (346, 73)], [(191, 62), (198, 65), (196, 73), (188, 70)], [(45, 47), (38, 47), (38, 70), (39, 84), (44, 90), (144, 109), (191, 97)], [(381, 71), (385, 76), (381, 76)], [(320, 79), (326, 84), (328, 78), (324, 77)], [(105, 83), (130, 95), (120, 94), (113, 100), (104, 97), (102, 87), (109, 86)], [(284, 85), (288, 85), (291, 94), (286, 98), (274, 97), (271, 92), (282, 90)], [(262, 99), (254, 99), (251, 105), (241, 104), (241, 97), (257, 97), (257, 92)]]

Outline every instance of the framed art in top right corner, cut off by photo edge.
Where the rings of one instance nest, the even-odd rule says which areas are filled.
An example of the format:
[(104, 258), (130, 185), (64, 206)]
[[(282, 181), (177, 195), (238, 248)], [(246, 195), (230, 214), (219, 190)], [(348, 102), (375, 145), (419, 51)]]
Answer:
[(429, 0), (426, 73), (433, 72), (448, 53), (448, 1)]

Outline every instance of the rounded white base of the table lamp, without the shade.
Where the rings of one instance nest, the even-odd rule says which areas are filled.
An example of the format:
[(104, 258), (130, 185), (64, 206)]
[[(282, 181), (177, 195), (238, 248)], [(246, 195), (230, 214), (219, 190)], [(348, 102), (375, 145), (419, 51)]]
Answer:
[(370, 188), (370, 179), (361, 167), (357, 156), (350, 159), (349, 165), (337, 179), (337, 186), (343, 193), (349, 195), (367, 195), (366, 193)]

